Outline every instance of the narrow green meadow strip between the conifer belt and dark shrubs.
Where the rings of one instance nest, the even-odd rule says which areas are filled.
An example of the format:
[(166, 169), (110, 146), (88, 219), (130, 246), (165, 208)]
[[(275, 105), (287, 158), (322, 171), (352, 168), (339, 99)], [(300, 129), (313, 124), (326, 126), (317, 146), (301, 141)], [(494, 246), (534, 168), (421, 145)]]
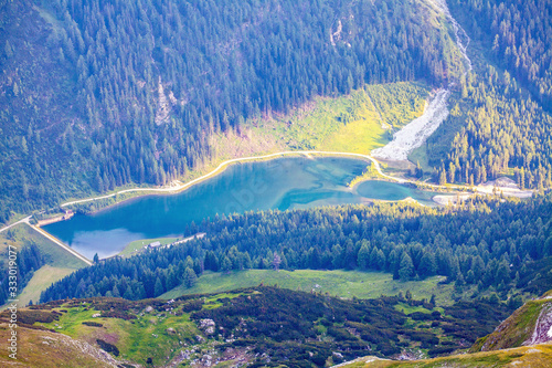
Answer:
[(194, 286), (185, 288), (178, 286), (161, 295), (161, 298), (174, 298), (181, 295), (220, 293), (224, 291), (251, 287), (259, 284), (278, 285), (279, 287), (316, 291), (340, 297), (374, 298), (381, 295), (396, 295), (400, 292), (411, 291), (414, 298), (429, 299), (432, 294), (437, 296), (439, 305), (453, 303), (453, 285), (442, 285), (440, 276), (424, 281), (402, 282), (393, 280), (392, 274), (359, 271), (316, 271), (296, 270), (279, 272), (273, 270), (247, 270), (231, 273), (206, 272), (198, 278)]

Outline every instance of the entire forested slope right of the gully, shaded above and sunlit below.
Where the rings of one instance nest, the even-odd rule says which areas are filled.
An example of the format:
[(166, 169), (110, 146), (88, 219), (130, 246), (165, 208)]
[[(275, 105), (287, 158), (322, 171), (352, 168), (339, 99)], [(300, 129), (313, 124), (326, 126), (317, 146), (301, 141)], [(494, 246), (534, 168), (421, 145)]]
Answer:
[[(471, 38), (474, 71), (452, 114), (427, 140), (440, 181), (478, 183), (514, 174), (552, 186), (552, 17), (545, 0), (448, 1)], [(444, 175), (443, 175), (444, 174)]]

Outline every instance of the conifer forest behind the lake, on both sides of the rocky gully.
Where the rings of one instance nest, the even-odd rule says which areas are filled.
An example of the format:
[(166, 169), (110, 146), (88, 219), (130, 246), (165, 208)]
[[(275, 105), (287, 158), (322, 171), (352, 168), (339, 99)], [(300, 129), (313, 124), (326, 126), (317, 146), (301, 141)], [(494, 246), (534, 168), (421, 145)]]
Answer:
[(513, 170), (521, 187), (552, 185), (543, 0), (452, 1), (471, 44), (489, 50), (468, 74), (454, 32), (418, 2), (0, 7), (0, 221), (127, 183), (167, 183), (209, 160), (213, 134), (396, 81), (456, 91), (426, 145), (435, 181), (477, 185)]

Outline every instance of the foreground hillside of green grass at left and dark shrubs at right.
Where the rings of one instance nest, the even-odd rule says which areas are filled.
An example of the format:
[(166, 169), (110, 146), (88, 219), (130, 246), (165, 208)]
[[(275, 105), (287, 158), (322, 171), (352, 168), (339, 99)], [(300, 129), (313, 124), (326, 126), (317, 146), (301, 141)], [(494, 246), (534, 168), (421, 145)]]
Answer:
[[(465, 348), (508, 311), (486, 299), (436, 307), (408, 294), (341, 299), (256, 286), (171, 301), (56, 301), (20, 309), (19, 322), (57, 333), (56, 344), (42, 343), (49, 355), (62, 353), (66, 335), (81, 341), (83, 351), (94, 353), (94, 346), (130, 366), (323, 367), (368, 354), (436, 356)], [(0, 314), (0, 322), (7, 316)], [(21, 335), (25, 341), (53, 343), (50, 334)]]

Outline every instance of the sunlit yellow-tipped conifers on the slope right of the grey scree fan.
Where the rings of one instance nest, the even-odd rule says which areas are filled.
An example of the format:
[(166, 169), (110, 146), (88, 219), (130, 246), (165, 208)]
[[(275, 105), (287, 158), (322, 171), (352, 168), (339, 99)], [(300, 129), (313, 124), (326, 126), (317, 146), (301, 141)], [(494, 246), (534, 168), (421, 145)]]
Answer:
[[(552, 116), (508, 72), (489, 66), (480, 75), (463, 77), (461, 84), (468, 92), (457, 113), (427, 140), (429, 165), (440, 166), (439, 183), (454, 178), (477, 185), (513, 168), (521, 189), (552, 187)], [(444, 130), (454, 126), (458, 133), (444, 139)], [(450, 140), (446, 149), (439, 148), (444, 140)]]

